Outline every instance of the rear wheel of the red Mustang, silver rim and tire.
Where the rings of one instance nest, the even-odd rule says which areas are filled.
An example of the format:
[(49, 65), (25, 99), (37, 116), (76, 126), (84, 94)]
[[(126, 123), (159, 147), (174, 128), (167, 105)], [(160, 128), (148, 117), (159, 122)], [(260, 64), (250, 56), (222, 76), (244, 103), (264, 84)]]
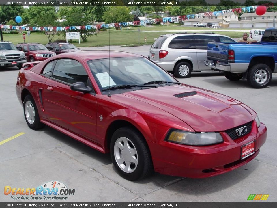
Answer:
[(31, 129), (41, 129), (44, 124), (40, 122), (40, 116), (38, 115), (38, 109), (35, 105), (35, 101), (31, 95), (27, 95), (23, 102), (24, 117), (27, 125)]

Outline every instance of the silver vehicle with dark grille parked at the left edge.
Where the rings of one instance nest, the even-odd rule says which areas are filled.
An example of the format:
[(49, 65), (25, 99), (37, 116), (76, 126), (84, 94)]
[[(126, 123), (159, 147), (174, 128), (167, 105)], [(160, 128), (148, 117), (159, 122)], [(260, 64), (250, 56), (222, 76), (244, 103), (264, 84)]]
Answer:
[(25, 62), (25, 54), (18, 51), (14, 44), (9, 41), (0, 42), (0, 67), (17, 66), (20, 69)]

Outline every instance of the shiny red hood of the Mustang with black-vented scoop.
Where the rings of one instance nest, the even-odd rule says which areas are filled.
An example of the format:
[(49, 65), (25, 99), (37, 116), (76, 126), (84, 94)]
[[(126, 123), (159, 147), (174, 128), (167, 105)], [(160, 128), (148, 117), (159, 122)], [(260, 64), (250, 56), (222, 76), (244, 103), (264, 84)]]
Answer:
[(196, 132), (225, 131), (254, 120), (243, 103), (216, 92), (188, 85), (172, 85), (123, 93), (158, 107), (184, 121)]

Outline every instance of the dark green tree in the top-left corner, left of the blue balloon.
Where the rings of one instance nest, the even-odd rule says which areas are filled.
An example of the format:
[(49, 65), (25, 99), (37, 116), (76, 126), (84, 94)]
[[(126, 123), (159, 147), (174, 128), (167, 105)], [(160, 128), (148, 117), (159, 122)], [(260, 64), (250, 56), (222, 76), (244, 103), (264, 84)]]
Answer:
[(5, 24), (9, 20), (14, 20), (24, 11), (23, 6), (1, 6), (0, 7), (0, 24)]

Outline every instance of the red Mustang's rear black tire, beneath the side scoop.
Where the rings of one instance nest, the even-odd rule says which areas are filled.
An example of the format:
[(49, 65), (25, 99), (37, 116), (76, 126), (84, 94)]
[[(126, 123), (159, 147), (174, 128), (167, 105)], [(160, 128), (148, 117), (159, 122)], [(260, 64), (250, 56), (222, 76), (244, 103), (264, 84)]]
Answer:
[[(33, 106), (33, 113), (34, 113), (34, 116), (33, 116), (34, 119), (32, 119), (33, 122), (29, 122), (29, 120), (27, 119), (29, 112), (25, 111), (26, 105)], [(30, 127), (30, 129), (36, 130), (36, 129), (41, 129), (45, 126), (42, 122), (40, 122), (40, 116), (38, 114), (38, 109), (37, 109), (37, 106), (35, 105), (35, 101), (31, 95), (27, 95), (25, 97), (24, 102), (23, 102), (23, 111), (24, 111), (24, 118), (26, 120), (27, 125)]]

